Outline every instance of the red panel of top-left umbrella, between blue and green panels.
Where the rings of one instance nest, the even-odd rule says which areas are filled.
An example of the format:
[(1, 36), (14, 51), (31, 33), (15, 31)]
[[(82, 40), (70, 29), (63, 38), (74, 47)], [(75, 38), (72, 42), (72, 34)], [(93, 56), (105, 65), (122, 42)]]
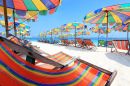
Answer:
[(16, 10), (24, 10), (27, 11), (27, 8), (23, 2), (23, 0), (13, 0), (14, 7)]

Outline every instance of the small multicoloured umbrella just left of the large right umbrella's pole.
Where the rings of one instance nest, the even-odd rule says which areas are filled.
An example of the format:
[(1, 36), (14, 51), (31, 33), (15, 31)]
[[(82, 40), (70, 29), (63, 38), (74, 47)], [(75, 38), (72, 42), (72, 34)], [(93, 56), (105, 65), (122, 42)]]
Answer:
[(98, 44), (99, 44), (99, 36), (100, 34), (107, 34), (111, 32), (111, 29), (107, 29), (107, 27), (92, 27), (89, 30), (91, 30), (92, 32), (98, 33)]

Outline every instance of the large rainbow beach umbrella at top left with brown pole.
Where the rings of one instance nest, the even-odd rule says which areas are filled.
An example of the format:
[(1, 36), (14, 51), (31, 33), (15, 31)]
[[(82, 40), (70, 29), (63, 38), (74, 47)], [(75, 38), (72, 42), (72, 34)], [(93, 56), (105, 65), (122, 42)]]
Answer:
[(52, 14), (56, 11), (56, 8), (61, 3), (61, 0), (1, 0), (0, 6), (4, 7), (4, 17), (6, 26), (6, 37), (8, 37), (8, 20), (7, 20), (7, 8), (18, 10), (22, 14), (26, 14), (26, 11), (40, 11), (40, 14)]

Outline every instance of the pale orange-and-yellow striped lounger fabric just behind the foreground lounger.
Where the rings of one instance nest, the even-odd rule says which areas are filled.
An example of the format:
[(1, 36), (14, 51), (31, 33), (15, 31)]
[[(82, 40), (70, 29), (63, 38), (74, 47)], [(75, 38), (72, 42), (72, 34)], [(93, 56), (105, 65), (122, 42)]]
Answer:
[(70, 60), (72, 57), (70, 57), (62, 52), (59, 52), (57, 54), (47, 56), (47, 58), (62, 64), (62, 63), (67, 62), (68, 60)]

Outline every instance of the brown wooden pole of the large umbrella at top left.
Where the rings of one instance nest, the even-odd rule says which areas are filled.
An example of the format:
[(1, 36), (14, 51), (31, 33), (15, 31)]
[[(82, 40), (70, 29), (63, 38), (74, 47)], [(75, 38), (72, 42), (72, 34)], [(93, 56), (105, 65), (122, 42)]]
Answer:
[(8, 32), (8, 19), (7, 19), (6, 0), (3, 0), (3, 6), (4, 6), (5, 29), (6, 29), (6, 38), (7, 38), (9, 36), (9, 32)]

